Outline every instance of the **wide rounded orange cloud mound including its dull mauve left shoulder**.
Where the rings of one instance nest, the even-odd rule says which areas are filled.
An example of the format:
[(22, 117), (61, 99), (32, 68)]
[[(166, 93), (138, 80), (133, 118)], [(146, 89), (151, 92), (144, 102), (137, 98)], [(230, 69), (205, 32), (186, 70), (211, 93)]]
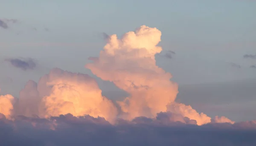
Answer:
[(20, 92), (16, 115), (74, 116), (91, 115), (113, 121), (117, 109), (111, 100), (102, 96), (96, 80), (87, 74), (52, 69), (38, 84), (30, 80)]

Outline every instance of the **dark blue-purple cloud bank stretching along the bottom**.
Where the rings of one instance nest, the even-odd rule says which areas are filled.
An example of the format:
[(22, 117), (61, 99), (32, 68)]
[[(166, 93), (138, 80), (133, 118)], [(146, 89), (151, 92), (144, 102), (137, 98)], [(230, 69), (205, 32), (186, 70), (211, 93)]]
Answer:
[[(1, 146), (255, 146), (256, 123), (210, 123), (204, 126), (157, 119), (117, 120), (60, 115), (49, 120), (17, 116), (0, 120)], [(1, 115), (0, 115), (1, 117)]]

